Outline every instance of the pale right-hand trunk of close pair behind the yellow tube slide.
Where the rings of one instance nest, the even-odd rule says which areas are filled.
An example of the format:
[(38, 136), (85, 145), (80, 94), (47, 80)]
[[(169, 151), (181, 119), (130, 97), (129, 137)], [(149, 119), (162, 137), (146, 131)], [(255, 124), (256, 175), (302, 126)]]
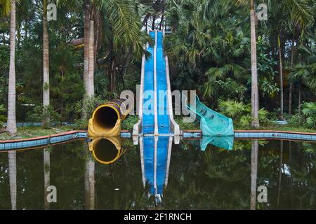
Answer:
[(94, 96), (94, 22), (90, 21), (88, 97)]

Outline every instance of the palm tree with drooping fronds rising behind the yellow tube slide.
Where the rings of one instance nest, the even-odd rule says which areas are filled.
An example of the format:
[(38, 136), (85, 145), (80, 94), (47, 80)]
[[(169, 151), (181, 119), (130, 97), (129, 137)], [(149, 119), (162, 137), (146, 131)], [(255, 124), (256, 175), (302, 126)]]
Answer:
[[(98, 34), (103, 30), (98, 23), (103, 18), (110, 23), (114, 48), (121, 46), (133, 46), (133, 50), (142, 50), (143, 44), (138, 44), (140, 39), (140, 18), (131, 0), (56, 0), (58, 6), (83, 6), (84, 10), (84, 86), (86, 90), (85, 99), (94, 95), (94, 66), (96, 63), (96, 50), (98, 49)], [(69, 6), (73, 3), (72, 6)], [(82, 5), (83, 4), (83, 5)], [(138, 21), (139, 19), (139, 21)], [(95, 31), (96, 27), (96, 31)], [(110, 34), (107, 34), (110, 36)], [(96, 40), (95, 41), (95, 36)], [(96, 42), (96, 43), (94, 43)], [(114, 67), (114, 66), (109, 66)], [(85, 102), (86, 100), (84, 100)], [(86, 104), (86, 103), (85, 103)], [(86, 105), (84, 105), (83, 116), (86, 117)]]

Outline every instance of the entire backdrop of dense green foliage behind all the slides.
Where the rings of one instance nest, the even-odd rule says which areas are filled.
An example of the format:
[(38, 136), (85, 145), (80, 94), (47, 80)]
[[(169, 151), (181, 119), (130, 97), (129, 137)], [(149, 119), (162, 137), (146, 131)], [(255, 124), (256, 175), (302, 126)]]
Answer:
[[(60, 115), (60, 121), (77, 120), (83, 128), (86, 119), (79, 119), (84, 97), (84, 49), (82, 43), (77, 45), (74, 41), (84, 36), (84, 1), (52, 2), (58, 5), (58, 20), (48, 22), (51, 106)], [(232, 116), (240, 127), (249, 126), (251, 54), (247, 2), (91, 1), (91, 16), (95, 21), (96, 97), (106, 101), (119, 97), (122, 90), (136, 92), (141, 57), (143, 53), (149, 56), (143, 45), (147, 41), (152, 44), (145, 28), (165, 28), (171, 31), (167, 32), (164, 44), (173, 90), (197, 90), (207, 106)], [(306, 114), (303, 108), (310, 108), (316, 99), (316, 3), (312, 0), (263, 2), (268, 4), (268, 20), (256, 21), (261, 122), (282, 118), (283, 89), (284, 112), (289, 114), (283, 117), (294, 125), (315, 128), (315, 113)], [(0, 1), (0, 105), (4, 108), (8, 100), (10, 56), (10, 17), (4, 12), (8, 10), (6, 3)], [(18, 1), (16, 11), (16, 111), (17, 120), (22, 122), (42, 104), (42, 1)], [(158, 20), (162, 17), (166, 24)], [(279, 51), (283, 88), (279, 78)], [(241, 111), (230, 114), (232, 102), (242, 106)], [(4, 111), (0, 113), (6, 116)]]

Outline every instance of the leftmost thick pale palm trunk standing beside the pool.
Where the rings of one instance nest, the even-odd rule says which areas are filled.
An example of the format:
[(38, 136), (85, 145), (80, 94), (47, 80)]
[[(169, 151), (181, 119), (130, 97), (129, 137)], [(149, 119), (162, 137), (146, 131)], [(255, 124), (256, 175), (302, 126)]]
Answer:
[(15, 118), (15, 0), (11, 1), (11, 27), (10, 27), (10, 69), (8, 80), (8, 125), (11, 135), (16, 133)]

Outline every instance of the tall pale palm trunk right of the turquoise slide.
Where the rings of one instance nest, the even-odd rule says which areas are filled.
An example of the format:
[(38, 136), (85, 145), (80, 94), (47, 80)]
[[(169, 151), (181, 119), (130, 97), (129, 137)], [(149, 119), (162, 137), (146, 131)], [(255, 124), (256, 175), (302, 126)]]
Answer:
[(254, 0), (250, 0), (250, 29), (251, 29), (251, 126), (259, 125), (259, 97), (258, 97), (258, 71), (257, 71), (257, 49), (256, 49), (256, 22), (254, 12)]

